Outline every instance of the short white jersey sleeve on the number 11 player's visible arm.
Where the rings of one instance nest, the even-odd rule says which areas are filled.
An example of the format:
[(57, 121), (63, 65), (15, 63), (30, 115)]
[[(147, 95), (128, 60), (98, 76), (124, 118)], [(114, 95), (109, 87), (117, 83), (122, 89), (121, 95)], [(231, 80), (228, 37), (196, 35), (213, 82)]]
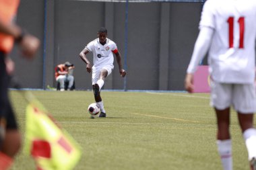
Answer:
[(201, 20), (199, 22), (199, 29), (201, 27), (210, 27), (215, 28), (214, 22), (214, 10), (215, 10), (214, 1), (207, 0), (203, 5), (203, 11), (201, 12)]

